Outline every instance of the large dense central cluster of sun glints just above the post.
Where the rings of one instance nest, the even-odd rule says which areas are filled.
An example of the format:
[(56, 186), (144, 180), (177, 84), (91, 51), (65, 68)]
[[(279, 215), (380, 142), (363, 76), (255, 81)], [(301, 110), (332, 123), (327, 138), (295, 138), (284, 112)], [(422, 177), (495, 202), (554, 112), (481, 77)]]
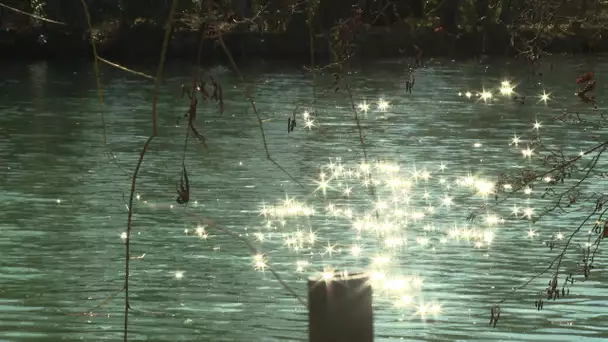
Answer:
[[(263, 222), (255, 236), (266, 254), (254, 257), (254, 268), (261, 270), (266, 262), (291, 264), (290, 273), (319, 281), (363, 271), (381, 303), (421, 317), (438, 314), (441, 298), (423, 294), (424, 275), (414, 266), (404, 270), (403, 260), (433, 255), (438, 248), (450, 248), (450, 241), (490, 248), (504, 220), (487, 213), (477, 226), (446, 222), (443, 217), (458, 210), (456, 198), (483, 202), (495, 185), (473, 175), (435, 177), (430, 170), (446, 168), (331, 160), (315, 180), (317, 198), (261, 204)], [(370, 196), (371, 184), (377, 198)]]

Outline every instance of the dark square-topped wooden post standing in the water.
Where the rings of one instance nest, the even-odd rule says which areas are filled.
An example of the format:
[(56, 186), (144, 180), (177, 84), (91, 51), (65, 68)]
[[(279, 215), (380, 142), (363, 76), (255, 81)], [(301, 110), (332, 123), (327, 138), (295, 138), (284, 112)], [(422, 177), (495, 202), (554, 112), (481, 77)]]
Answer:
[(363, 274), (308, 280), (309, 342), (372, 342), (372, 287)]

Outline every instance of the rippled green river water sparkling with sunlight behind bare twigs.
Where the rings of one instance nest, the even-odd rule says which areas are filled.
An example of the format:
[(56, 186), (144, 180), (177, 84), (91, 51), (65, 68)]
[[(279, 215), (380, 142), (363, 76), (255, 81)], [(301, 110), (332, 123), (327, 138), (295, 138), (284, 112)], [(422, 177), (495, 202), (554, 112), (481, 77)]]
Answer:
[[(357, 109), (374, 179), (367, 188), (351, 103), (344, 89), (325, 94), (329, 73), (318, 77), (312, 103), (311, 76), (301, 68), (244, 67), (268, 151), (283, 171), (266, 158), (238, 78), (224, 67), (207, 69), (223, 85), (225, 112), (199, 104), (196, 125), (207, 148), (189, 140), (191, 201), (183, 207), (175, 196), (186, 126), (176, 120), (188, 108), (180, 87), (190, 84), (192, 68), (168, 65), (159, 91), (160, 136), (137, 182), (130, 339), (307, 339), (306, 308), (268, 269), (255, 269), (243, 241), (217, 226), (254, 241), (267, 266), (304, 299), (307, 278), (327, 268), (405, 277), (405, 286), (392, 289), (388, 281), (377, 282), (384, 285), (374, 289), (377, 341), (607, 338), (605, 254), (600, 248), (596, 269), (583, 282), (574, 244), (563, 263), (577, 280), (570, 295), (536, 310), (549, 272), (502, 303), (496, 328), (488, 327), (492, 305), (546, 268), (564, 246), (558, 241), (550, 250), (544, 242), (556, 232), (567, 237), (594, 200), (532, 225), (511, 208), (542, 212), (546, 203), (535, 189), (489, 209), (504, 221), (470, 223), (469, 232), (481, 232), (476, 238), (462, 229), (475, 208), (494, 203), (493, 195), (461, 186), (463, 179), (495, 181), (501, 172), (538, 166), (521, 152), (536, 134), (573, 155), (596, 143), (601, 131), (552, 120), (576, 108), (574, 80), (591, 68), (608, 72), (602, 58), (557, 59), (553, 70), (544, 66), (542, 77), (529, 76), (517, 63), (430, 61), (416, 70), (411, 95), (405, 92), (405, 61), (353, 68), (346, 78), (354, 102), (370, 105)], [(122, 340), (124, 294), (106, 298), (123, 287), (129, 177), (152, 129), (153, 82), (103, 66), (102, 109), (90, 63), (4, 64), (0, 74), (0, 341)], [(505, 79), (527, 96), (524, 104), (500, 96)], [(476, 98), (484, 89), (493, 92), (491, 100)], [(539, 99), (543, 91), (550, 94), (546, 103)], [(601, 82), (596, 93), (602, 107)], [(385, 110), (378, 108), (380, 99), (388, 102)], [(288, 133), (294, 110), (298, 125)], [(304, 127), (305, 111), (314, 120), (310, 128)], [(514, 135), (521, 136), (519, 147), (510, 145)], [(593, 182), (602, 191), (605, 183)], [(395, 194), (400, 198), (391, 202)], [(276, 205), (286, 198), (291, 204), (281, 214)], [(293, 216), (296, 202), (300, 213), (310, 212)], [(340, 210), (328, 212), (330, 203)], [(388, 233), (377, 227), (357, 233), (357, 220), (365, 217)], [(576, 244), (587, 241), (586, 229)], [(353, 246), (361, 247), (360, 255), (351, 253)], [(386, 256), (389, 265), (380, 265)], [(92, 308), (94, 314), (83, 315)]]

